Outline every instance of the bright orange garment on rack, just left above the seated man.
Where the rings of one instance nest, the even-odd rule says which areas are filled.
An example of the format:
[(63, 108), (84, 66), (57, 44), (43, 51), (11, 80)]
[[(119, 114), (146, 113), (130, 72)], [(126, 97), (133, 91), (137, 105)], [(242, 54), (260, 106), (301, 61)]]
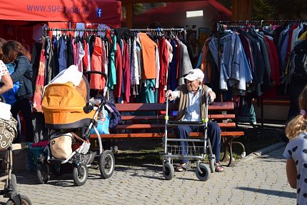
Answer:
[(156, 48), (157, 44), (146, 33), (139, 33), (143, 56), (142, 79), (156, 79)]

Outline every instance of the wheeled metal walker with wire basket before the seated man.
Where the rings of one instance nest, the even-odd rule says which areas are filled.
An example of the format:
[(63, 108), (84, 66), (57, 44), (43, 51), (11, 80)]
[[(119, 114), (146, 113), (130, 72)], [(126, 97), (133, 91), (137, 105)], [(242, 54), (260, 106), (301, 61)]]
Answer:
[[(165, 116), (165, 138), (163, 154), (163, 176), (171, 180), (174, 176), (173, 159), (189, 159), (196, 161), (195, 174), (201, 181), (207, 181), (211, 172), (216, 169), (216, 158), (211, 149), (210, 139), (207, 137), (208, 129), (208, 105), (210, 96), (206, 97), (205, 119), (203, 121), (168, 121), (168, 98), (166, 98), (166, 116)], [(177, 125), (204, 126), (203, 136), (201, 139), (168, 139), (168, 128)], [(182, 154), (183, 147), (178, 146), (179, 141), (188, 143), (186, 154)], [(175, 143), (175, 144), (172, 144)], [(208, 151), (209, 166), (203, 161), (206, 159)]]

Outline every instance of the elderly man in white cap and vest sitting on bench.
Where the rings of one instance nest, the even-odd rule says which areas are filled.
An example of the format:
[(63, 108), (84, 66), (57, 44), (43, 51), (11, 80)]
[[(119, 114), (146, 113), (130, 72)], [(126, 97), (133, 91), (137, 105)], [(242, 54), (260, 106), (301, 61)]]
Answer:
[[(184, 77), (186, 84), (178, 86), (174, 91), (166, 91), (169, 100), (178, 99), (178, 121), (201, 121), (204, 119), (206, 97), (210, 96), (211, 101), (216, 99), (216, 94), (211, 88), (202, 84), (203, 71), (193, 69)], [(191, 131), (203, 131), (203, 126), (178, 125), (174, 128), (174, 134), (178, 139), (188, 139)], [(216, 156), (216, 172), (222, 172), (220, 164), (221, 128), (213, 121), (208, 122), (208, 137), (211, 141), (213, 154)], [(181, 154), (186, 155), (188, 142), (180, 141)], [(184, 171), (188, 159), (182, 159), (176, 171)]]

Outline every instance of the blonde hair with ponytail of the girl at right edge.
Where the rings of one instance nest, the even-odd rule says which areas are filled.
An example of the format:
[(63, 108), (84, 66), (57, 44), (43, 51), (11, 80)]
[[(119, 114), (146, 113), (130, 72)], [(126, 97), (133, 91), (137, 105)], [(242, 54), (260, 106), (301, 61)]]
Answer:
[[(307, 111), (307, 86), (298, 97), (298, 105), (301, 110)], [(286, 126), (286, 136), (288, 139), (295, 139), (298, 134), (307, 130), (307, 114), (298, 114)]]

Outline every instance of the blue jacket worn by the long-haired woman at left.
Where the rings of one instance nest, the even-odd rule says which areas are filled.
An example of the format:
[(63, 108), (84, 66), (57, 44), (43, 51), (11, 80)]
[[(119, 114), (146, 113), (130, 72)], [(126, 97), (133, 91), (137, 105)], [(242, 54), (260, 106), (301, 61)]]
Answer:
[(13, 83), (19, 81), (19, 89), (16, 98), (31, 98), (33, 96), (32, 89), (32, 64), (26, 56), (18, 56), (15, 61), (15, 71), (11, 74)]

